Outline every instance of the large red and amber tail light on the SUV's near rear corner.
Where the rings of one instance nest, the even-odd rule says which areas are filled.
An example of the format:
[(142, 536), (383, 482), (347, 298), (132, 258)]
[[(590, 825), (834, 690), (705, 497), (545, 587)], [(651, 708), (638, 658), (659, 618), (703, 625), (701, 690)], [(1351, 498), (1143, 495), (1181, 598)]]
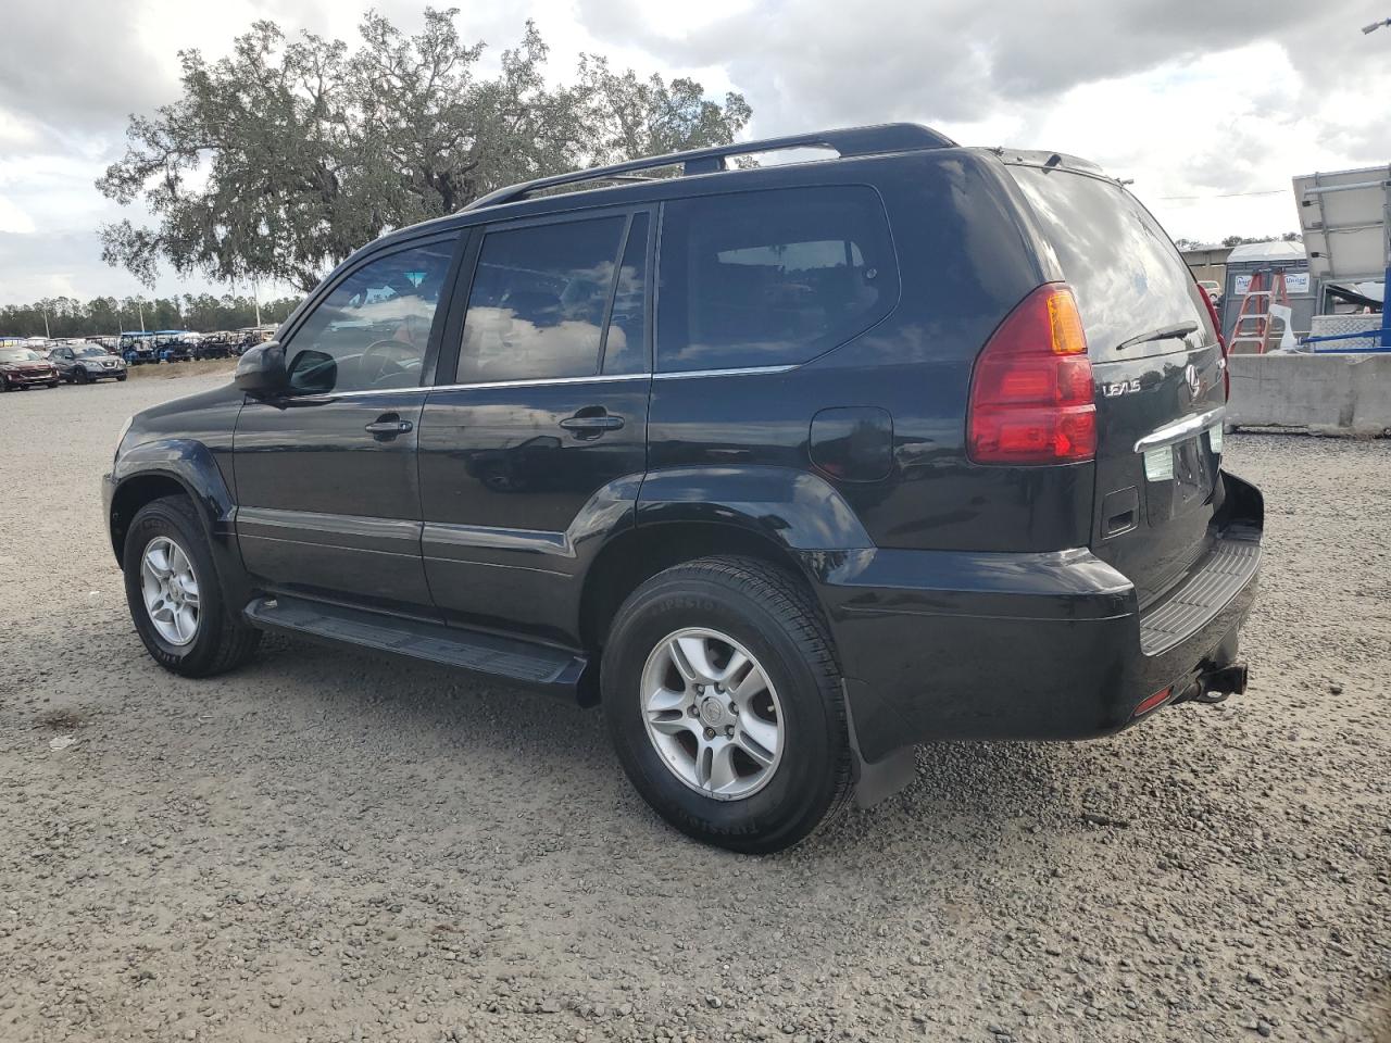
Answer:
[(975, 463), (1078, 463), (1096, 458), (1086, 334), (1066, 282), (1014, 306), (971, 377), (967, 455)]

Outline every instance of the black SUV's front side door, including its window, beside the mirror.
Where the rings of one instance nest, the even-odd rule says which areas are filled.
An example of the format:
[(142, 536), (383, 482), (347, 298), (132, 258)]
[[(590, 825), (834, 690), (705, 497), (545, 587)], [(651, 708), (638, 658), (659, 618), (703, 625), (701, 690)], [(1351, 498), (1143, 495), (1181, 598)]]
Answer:
[(455, 245), (434, 238), (349, 270), (285, 338), (288, 391), (246, 399), (236, 535), (266, 587), (431, 612), (416, 445)]

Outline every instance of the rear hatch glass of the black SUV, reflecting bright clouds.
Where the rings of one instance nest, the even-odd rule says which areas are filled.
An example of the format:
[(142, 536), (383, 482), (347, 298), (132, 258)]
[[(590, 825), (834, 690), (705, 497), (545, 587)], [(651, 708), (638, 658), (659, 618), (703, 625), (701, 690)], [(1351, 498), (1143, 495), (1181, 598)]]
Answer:
[[(1124, 188), (1057, 167), (1011, 165), (1010, 172), (1077, 295), (1095, 359), (1110, 362), (1123, 341), (1181, 323), (1196, 323), (1205, 343), (1216, 339), (1184, 259)], [(1184, 349), (1184, 341), (1150, 341), (1127, 348), (1124, 357)]]

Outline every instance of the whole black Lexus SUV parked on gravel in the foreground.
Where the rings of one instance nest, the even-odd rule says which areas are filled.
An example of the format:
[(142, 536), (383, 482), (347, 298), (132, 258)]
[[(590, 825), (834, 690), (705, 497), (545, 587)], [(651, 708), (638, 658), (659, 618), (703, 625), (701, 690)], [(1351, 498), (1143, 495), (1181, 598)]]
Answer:
[(271, 630), (601, 704), (664, 818), (773, 851), (914, 743), (1245, 687), (1263, 508), (1220, 466), (1224, 367), (1093, 165), (835, 131), (378, 239), (235, 385), (132, 420), (107, 516), (170, 670)]

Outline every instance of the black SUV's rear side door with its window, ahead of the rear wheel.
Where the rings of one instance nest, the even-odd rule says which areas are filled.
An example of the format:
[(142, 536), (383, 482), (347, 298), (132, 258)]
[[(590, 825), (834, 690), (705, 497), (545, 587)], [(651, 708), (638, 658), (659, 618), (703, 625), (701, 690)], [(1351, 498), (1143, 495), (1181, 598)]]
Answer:
[(581, 563), (633, 523), (647, 463), (651, 227), (588, 211), (480, 238), (455, 381), (420, 421), (424, 569), (448, 620), (577, 640)]

